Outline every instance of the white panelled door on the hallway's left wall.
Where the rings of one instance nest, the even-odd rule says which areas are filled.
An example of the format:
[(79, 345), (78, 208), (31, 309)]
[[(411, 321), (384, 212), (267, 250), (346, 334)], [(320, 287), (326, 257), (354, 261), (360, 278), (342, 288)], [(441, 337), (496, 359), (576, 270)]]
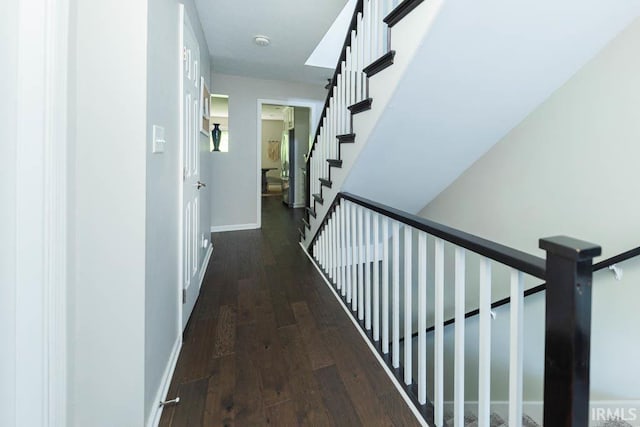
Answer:
[(184, 15), (182, 49), (182, 329), (198, 299), (200, 284), (200, 49)]

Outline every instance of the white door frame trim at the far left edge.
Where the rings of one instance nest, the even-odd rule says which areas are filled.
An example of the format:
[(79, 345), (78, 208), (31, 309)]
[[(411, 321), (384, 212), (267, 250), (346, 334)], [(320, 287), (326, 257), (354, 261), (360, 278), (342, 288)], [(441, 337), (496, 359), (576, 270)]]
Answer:
[(66, 426), (70, 4), (17, 11), (13, 409), (17, 425)]

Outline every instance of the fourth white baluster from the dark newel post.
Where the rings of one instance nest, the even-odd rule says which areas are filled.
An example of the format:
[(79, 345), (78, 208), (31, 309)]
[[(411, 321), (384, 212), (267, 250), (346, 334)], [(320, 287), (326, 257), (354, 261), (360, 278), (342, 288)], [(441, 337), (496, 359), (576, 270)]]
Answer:
[(444, 406), (444, 242), (435, 242), (434, 419), (443, 425)]

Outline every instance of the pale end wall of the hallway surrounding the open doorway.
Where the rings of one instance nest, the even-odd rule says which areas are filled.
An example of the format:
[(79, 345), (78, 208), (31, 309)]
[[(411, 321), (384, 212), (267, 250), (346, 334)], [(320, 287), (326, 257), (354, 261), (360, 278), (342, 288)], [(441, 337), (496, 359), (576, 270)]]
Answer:
[[(213, 64), (215, 71), (215, 64)], [(213, 73), (211, 92), (229, 95), (229, 152), (212, 157), (211, 225), (257, 226), (260, 192), (258, 165), (258, 99), (283, 105), (316, 102), (326, 96), (322, 86), (258, 80)], [(317, 116), (313, 119), (317, 123)]]

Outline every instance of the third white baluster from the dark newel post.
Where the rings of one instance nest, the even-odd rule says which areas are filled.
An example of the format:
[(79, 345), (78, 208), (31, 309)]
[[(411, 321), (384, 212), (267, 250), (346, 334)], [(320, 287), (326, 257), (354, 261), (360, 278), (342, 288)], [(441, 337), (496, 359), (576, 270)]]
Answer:
[(464, 313), (465, 251), (456, 247), (455, 259), (455, 360), (453, 386), (453, 418), (455, 427), (464, 427)]

